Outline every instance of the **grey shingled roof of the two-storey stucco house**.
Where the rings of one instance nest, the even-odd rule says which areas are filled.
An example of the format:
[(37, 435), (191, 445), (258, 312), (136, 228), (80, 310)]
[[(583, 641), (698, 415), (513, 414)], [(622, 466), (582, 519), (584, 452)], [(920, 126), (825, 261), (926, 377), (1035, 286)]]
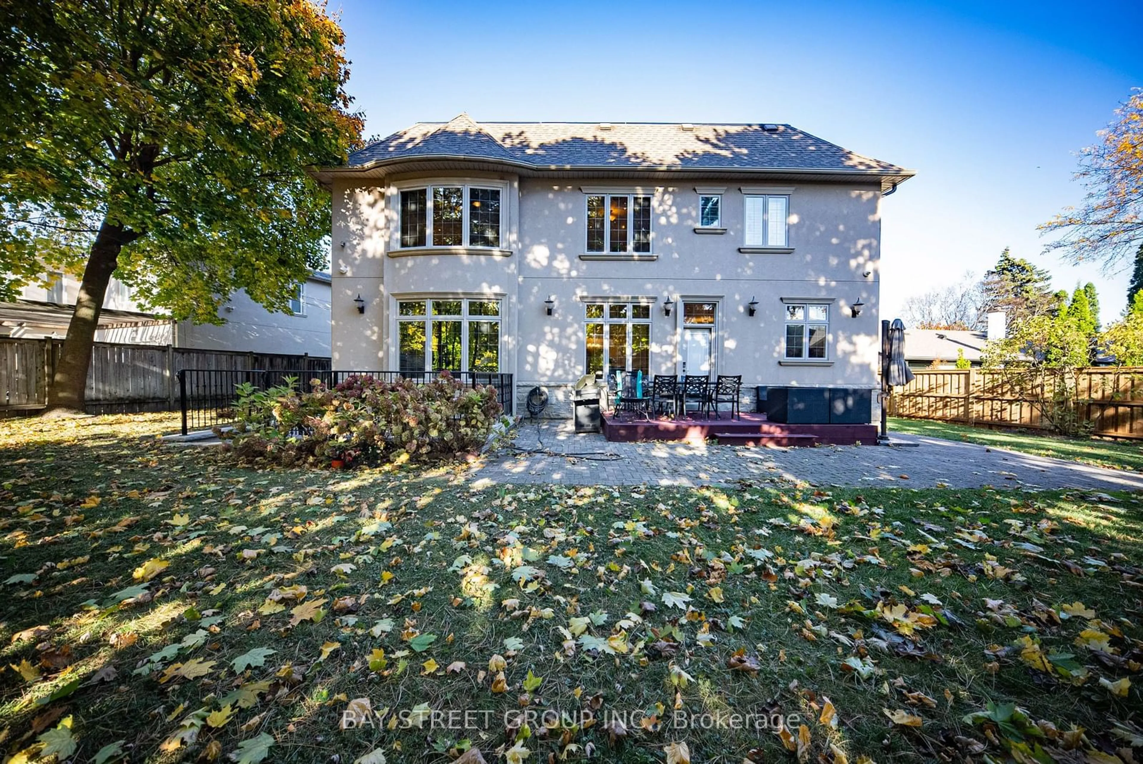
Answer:
[[(347, 167), (406, 159), (463, 158), (536, 169), (824, 170), (911, 175), (910, 170), (790, 125), (616, 122), (417, 122), (354, 151)], [(767, 129), (769, 128), (769, 129)]]

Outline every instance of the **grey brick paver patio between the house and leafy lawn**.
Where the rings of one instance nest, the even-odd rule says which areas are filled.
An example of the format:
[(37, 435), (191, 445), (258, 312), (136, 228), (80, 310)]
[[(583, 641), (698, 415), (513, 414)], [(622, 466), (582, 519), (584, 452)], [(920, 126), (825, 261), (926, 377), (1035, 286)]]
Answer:
[[(1032, 456), (975, 444), (894, 435), (916, 447), (744, 448), (690, 443), (607, 443), (570, 423), (521, 423), (517, 448), (472, 468), (481, 483), (568, 485), (725, 485), (736, 480), (818, 486), (1143, 491), (1143, 475)], [(567, 455), (563, 455), (567, 454)]]

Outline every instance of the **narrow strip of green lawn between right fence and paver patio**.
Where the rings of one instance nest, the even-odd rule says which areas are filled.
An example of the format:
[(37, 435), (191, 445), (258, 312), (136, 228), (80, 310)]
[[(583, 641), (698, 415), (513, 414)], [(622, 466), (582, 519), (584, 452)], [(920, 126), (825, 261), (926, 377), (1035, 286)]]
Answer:
[(889, 419), (889, 432), (978, 443), (1037, 456), (1066, 459), (1095, 467), (1143, 472), (1143, 444), (1100, 438), (1064, 438), (1029, 430), (990, 430), (925, 419)]

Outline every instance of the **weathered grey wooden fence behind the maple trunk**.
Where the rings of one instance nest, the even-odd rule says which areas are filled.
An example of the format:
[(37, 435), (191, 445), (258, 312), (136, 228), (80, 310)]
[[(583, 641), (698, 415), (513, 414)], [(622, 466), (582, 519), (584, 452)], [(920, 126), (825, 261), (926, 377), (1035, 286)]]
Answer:
[[(0, 416), (47, 405), (48, 383), (62, 347), (61, 340), (0, 339)], [(322, 372), (329, 371), (330, 361), (307, 355), (96, 342), (87, 375), (87, 411), (178, 411), (177, 373), (183, 368)]]

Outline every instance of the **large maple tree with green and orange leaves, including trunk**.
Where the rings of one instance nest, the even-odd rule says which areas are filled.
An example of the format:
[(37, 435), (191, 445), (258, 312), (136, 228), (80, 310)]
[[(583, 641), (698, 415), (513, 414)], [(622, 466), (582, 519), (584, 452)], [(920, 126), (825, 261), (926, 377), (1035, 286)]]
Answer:
[(309, 0), (0, 2), (0, 297), (82, 273), (49, 409), (82, 411), (112, 274), (221, 323), (237, 289), (285, 310), (325, 262), (306, 175), (359, 140), (343, 35)]

